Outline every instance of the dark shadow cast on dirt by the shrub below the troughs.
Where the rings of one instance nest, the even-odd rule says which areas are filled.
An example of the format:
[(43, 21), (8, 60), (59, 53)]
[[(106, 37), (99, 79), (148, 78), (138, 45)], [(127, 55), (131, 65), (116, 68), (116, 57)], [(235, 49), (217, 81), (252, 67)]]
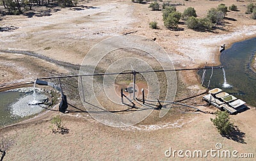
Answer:
[(245, 133), (241, 132), (237, 126), (234, 126), (232, 132), (230, 134), (222, 134), (223, 137), (227, 137), (227, 139), (231, 139), (232, 141), (236, 141), (242, 144), (246, 144), (244, 141)]

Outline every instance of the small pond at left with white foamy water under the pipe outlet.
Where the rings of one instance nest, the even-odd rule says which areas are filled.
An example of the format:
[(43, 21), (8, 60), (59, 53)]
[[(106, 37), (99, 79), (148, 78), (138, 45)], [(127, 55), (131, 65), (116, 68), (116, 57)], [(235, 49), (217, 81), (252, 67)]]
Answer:
[(48, 99), (38, 88), (18, 88), (0, 92), (0, 127), (17, 123), (41, 112)]

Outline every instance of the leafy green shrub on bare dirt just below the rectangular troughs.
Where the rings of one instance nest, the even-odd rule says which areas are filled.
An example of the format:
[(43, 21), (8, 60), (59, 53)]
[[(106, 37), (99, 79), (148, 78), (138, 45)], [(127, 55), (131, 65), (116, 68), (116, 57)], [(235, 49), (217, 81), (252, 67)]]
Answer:
[(216, 118), (212, 119), (211, 121), (213, 125), (216, 126), (218, 129), (218, 132), (220, 132), (221, 135), (228, 135), (232, 132), (234, 129), (234, 124), (230, 122), (229, 120), (228, 112), (226, 111), (219, 111), (216, 114)]

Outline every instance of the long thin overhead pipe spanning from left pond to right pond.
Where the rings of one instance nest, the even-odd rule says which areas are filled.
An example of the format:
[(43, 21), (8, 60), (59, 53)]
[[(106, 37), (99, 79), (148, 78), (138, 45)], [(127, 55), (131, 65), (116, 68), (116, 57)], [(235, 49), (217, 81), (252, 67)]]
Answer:
[[(205, 67), (205, 68), (189, 68), (189, 69), (173, 69), (173, 70), (152, 70), (152, 71), (141, 71), (136, 73), (154, 73), (154, 72), (177, 72), (183, 70), (209, 70), (209, 69), (220, 69), (223, 66), (212, 66), (212, 67)], [(100, 75), (118, 75), (118, 74), (132, 74), (134, 72), (120, 72), (120, 73), (93, 73), (93, 74), (84, 74), (84, 75), (64, 75), (64, 76), (56, 76), (56, 77), (43, 77), (38, 79), (60, 79), (60, 78), (71, 78), (71, 77), (86, 77), (86, 76), (100, 76)]]

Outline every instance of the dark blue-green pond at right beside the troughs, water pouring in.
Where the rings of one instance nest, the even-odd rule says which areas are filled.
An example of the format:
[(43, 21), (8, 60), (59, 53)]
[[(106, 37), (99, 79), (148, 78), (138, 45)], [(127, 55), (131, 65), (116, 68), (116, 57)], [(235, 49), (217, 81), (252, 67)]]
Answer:
[[(220, 62), (225, 70), (213, 70), (210, 89), (221, 88), (247, 104), (256, 106), (256, 73), (250, 61), (256, 52), (256, 38), (237, 42), (221, 52)], [(203, 71), (198, 74), (202, 75)], [(204, 86), (208, 85), (211, 71), (205, 73)]]

